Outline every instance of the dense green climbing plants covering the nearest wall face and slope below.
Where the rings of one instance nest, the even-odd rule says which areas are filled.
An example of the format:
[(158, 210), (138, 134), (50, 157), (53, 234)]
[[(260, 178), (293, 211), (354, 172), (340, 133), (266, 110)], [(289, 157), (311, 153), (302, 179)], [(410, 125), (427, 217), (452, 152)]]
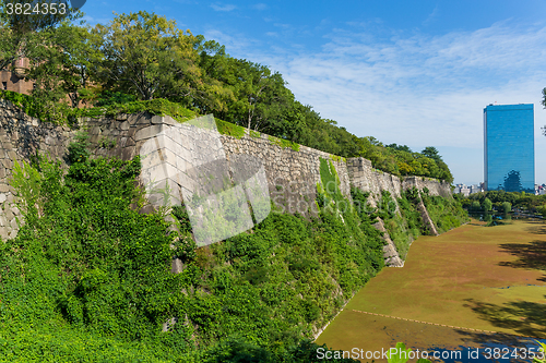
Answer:
[(3, 361), (312, 362), (302, 339), (382, 267), (382, 242), (345, 207), (329, 160), (319, 218), (273, 213), (195, 249), (183, 207), (177, 233), (131, 207), (144, 203), (138, 158), (80, 152), (66, 176), (45, 159), (14, 169), (25, 223), (1, 243)]

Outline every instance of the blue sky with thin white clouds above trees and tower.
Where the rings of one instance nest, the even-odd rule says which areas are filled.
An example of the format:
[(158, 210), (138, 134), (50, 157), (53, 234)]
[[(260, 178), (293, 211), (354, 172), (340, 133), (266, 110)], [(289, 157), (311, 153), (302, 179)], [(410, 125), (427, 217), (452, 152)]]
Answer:
[(455, 183), (483, 181), (483, 109), (534, 104), (546, 183), (544, 1), (100, 1), (88, 24), (140, 10), (269, 65), (296, 98), (358, 136), (436, 146)]

